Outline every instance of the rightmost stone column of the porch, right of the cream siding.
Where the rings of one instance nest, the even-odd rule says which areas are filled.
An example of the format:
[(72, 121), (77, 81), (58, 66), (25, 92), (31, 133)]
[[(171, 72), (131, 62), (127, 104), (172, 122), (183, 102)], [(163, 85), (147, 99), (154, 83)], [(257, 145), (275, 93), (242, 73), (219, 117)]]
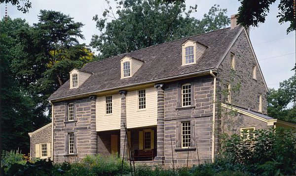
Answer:
[(155, 84), (157, 88), (157, 156), (154, 161), (164, 164), (164, 89), (163, 84)]

